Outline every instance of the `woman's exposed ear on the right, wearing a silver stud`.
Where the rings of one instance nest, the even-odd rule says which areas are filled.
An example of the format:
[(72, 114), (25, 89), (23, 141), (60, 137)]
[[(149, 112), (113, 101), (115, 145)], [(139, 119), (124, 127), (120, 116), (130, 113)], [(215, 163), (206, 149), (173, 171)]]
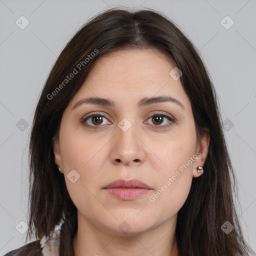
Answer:
[(202, 128), (199, 142), (196, 144), (196, 150), (195, 150), (195, 153), (197, 152), (196, 154), (198, 157), (194, 160), (194, 164), (193, 164), (193, 177), (194, 178), (196, 178), (202, 174), (197, 171), (196, 167), (197, 166), (203, 167), (203, 164), (204, 164), (205, 159), (208, 154), (209, 141), (210, 141), (209, 129)]

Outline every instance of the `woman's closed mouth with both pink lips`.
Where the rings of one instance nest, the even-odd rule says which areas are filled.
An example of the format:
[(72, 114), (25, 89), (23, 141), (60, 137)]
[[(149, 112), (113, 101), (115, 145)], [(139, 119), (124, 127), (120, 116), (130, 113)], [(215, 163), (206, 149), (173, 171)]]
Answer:
[(117, 179), (103, 189), (120, 200), (134, 200), (152, 190), (151, 187), (138, 179)]

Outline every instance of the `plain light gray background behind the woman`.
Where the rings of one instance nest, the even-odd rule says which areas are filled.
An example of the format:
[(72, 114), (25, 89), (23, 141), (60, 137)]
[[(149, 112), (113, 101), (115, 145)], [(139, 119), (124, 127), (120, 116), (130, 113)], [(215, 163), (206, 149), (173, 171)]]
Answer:
[[(0, 255), (24, 244), (15, 226), (27, 222), (28, 138), (50, 68), (83, 22), (116, 5), (163, 12), (200, 50), (222, 119), (234, 125), (224, 133), (238, 181), (237, 211), (256, 250), (256, 0), (0, 0)], [(29, 21), (24, 29), (15, 24), (21, 15)], [(229, 29), (220, 23), (226, 15), (234, 21)], [(16, 126), (21, 118), (28, 123), (23, 131)]]

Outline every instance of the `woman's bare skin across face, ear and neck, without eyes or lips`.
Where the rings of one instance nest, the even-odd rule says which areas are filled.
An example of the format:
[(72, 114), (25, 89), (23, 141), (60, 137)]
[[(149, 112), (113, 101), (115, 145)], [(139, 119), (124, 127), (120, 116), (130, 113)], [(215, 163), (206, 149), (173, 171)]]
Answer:
[[(196, 167), (203, 166), (206, 159), (209, 133), (204, 130), (196, 143), (191, 104), (180, 79), (169, 75), (173, 67), (156, 49), (110, 52), (94, 63), (66, 107), (53, 151), (77, 207), (75, 256), (178, 255), (177, 212), (187, 198), (192, 177), (201, 175)], [(173, 102), (137, 108), (141, 98), (159, 95), (174, 97), (184, 109)], [(89, 96), (111, 99), (116, 106), (82, 104), (72, 110), (78, 100)], [(100, 124), (95, 116), (87, 119), (88, 125), (100, 126), (98, 129), (80, 122), (94, 111), (107, 115)], [(170, 123), (167, 117), (155, 121), (149, 116), (159, 116), (159, 111), (175, 118), (175, 122)], [(118, 126), (123, 118), (131, 124), (126, 131)], [(165, 124), (170, 125), (159, 128)], [(200, 155), (192, 164), (151, 202), (149, 196), (198, 151)], [(67, 178), (72, 169), (80, 175), (74, 183)], [(152, 189), (135, 200), (120, 200), (102, 189), (119, 178), (136, 178)], [(118, 228), (123, 221), (130, 226), (126, 233)]]

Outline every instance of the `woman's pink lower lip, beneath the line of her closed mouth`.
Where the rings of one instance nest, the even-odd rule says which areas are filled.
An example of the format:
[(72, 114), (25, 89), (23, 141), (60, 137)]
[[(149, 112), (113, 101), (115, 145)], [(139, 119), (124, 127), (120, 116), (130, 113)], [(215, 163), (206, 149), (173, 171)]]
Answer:
[(134, 200), (148, 193), (151, 189), (114, 187), (114, 188), (105, 188), (105, 190), (111, 195), (121, 200)]

